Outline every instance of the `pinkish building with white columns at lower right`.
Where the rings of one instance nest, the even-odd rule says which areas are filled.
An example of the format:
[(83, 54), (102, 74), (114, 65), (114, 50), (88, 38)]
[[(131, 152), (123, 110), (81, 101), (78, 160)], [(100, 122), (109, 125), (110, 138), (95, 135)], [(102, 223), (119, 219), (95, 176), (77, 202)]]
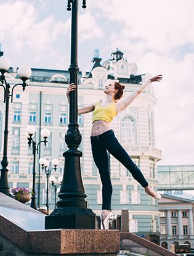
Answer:
[(166, 249), (171, 244), (190, 244), (194, 247), (193, 205), (194, 198), (179, 197), (182, 191), (166, 191), (158, 202), (160, 211), (160, 243)]

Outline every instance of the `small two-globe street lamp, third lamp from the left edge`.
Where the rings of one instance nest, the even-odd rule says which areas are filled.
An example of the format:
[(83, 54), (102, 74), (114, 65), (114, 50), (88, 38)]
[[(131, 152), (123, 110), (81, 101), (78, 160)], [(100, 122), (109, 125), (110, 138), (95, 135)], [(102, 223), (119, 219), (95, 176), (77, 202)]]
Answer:
[(54, 168), (48, 169), (49, 166), (49, 161), (44, 159), (42, 157), (39, 159), (39, 163), (42, 165), (42, 171), (45, 171), (46, 173), (46, 178), (47, 178), (47, 186), (46, 186), (46, 207), (47, 207), (47, 212), (49, 212), (49, 177), (51, 176), (51, 171), (52, 170), (57, 170), (57, 165), (59, 165), (59, 160), (58, 159), (53, 159), (52, 160), (52, 165), (54, 165)]

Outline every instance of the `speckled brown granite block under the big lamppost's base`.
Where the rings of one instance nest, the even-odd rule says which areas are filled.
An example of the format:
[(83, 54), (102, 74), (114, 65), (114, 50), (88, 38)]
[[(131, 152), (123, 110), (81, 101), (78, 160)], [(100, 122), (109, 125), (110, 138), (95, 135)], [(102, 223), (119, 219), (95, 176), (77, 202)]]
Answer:
[(119, 231), (47, 229), (28, 233), (28, 250), (47, 254), (117, 254)]

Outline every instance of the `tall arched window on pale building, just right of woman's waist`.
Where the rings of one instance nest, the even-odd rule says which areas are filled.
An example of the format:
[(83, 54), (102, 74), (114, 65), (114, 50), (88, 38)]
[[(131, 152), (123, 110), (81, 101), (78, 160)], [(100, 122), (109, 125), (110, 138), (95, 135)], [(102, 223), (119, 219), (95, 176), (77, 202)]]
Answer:
[(135, 121), (128, 115), (121, 120), (121, 144), (126, 146), (136, 144)]

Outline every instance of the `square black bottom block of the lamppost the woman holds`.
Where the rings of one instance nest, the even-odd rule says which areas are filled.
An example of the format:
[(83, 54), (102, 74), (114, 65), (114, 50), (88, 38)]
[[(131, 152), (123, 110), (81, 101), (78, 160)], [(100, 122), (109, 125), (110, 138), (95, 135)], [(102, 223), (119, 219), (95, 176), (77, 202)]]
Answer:
[(45, 229), (100, 229), (100, 217), (96, 215), (49, 215)]

